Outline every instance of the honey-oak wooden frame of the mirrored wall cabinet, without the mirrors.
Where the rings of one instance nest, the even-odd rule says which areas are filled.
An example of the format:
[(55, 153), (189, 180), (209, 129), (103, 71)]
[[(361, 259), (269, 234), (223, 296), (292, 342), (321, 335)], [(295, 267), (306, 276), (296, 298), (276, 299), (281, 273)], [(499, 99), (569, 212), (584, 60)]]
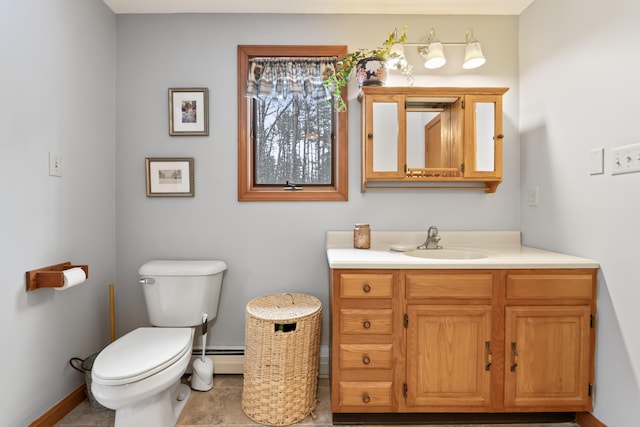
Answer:
[[(363, 87), (359, 99), (362, 103), (362, 167), (361, 191), (368, 188), (476, 188), (493, 193), (502, 182), (502, 95), (507, 88), (460, 87)], [(447, 112), (451, 127), (443, 130), (447, 145), (443, 151), (451, 156), (451, 164), (441, 168), (412, 169), (407, 166), (407, 105), (412, 99), (457, 98), (453, 110)], [(476, 103), (489, 102), (494, 111), (494, 169), (475, 169), (476, 158)], [(374, 169), (374, 104), (390, 103), (397, 111), (397, 165), (393, 170)], [(410, 103), (410, 102), (409, 102)]]

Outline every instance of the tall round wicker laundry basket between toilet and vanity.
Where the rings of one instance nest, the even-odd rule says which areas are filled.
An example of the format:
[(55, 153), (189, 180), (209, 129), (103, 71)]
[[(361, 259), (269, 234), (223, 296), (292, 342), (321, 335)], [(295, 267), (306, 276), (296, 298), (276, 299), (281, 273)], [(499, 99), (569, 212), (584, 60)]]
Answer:
[(247, 304), (242, 410), (260, 424), (302, 421), (316, 407), (322, 304), (274, 294)]

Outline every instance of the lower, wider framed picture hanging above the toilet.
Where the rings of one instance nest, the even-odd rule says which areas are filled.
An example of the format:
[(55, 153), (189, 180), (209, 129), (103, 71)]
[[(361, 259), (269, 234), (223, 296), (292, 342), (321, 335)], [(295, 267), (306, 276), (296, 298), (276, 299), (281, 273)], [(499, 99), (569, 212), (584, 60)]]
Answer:
[(145, 159), (147, 196), (193, 197), (195, 195), (193, 157)]

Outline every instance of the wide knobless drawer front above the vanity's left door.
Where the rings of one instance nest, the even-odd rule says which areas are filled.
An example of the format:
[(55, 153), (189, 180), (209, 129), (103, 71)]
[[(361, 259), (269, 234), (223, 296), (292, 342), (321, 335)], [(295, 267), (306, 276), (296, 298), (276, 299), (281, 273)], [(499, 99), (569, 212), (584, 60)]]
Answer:
[(491, 298), (493, 274), (407, 273), (407, 299)]

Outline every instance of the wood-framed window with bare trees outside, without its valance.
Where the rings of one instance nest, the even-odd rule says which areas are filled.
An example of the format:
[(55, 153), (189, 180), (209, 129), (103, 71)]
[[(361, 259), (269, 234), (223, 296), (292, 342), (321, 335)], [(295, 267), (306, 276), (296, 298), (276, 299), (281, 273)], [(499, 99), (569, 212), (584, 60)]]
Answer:
[(324, 99), (245, 96), (251, 59), (346, 53), (346, 46), (238, 46), (239, 201), (348, 199), (347, 112)]

